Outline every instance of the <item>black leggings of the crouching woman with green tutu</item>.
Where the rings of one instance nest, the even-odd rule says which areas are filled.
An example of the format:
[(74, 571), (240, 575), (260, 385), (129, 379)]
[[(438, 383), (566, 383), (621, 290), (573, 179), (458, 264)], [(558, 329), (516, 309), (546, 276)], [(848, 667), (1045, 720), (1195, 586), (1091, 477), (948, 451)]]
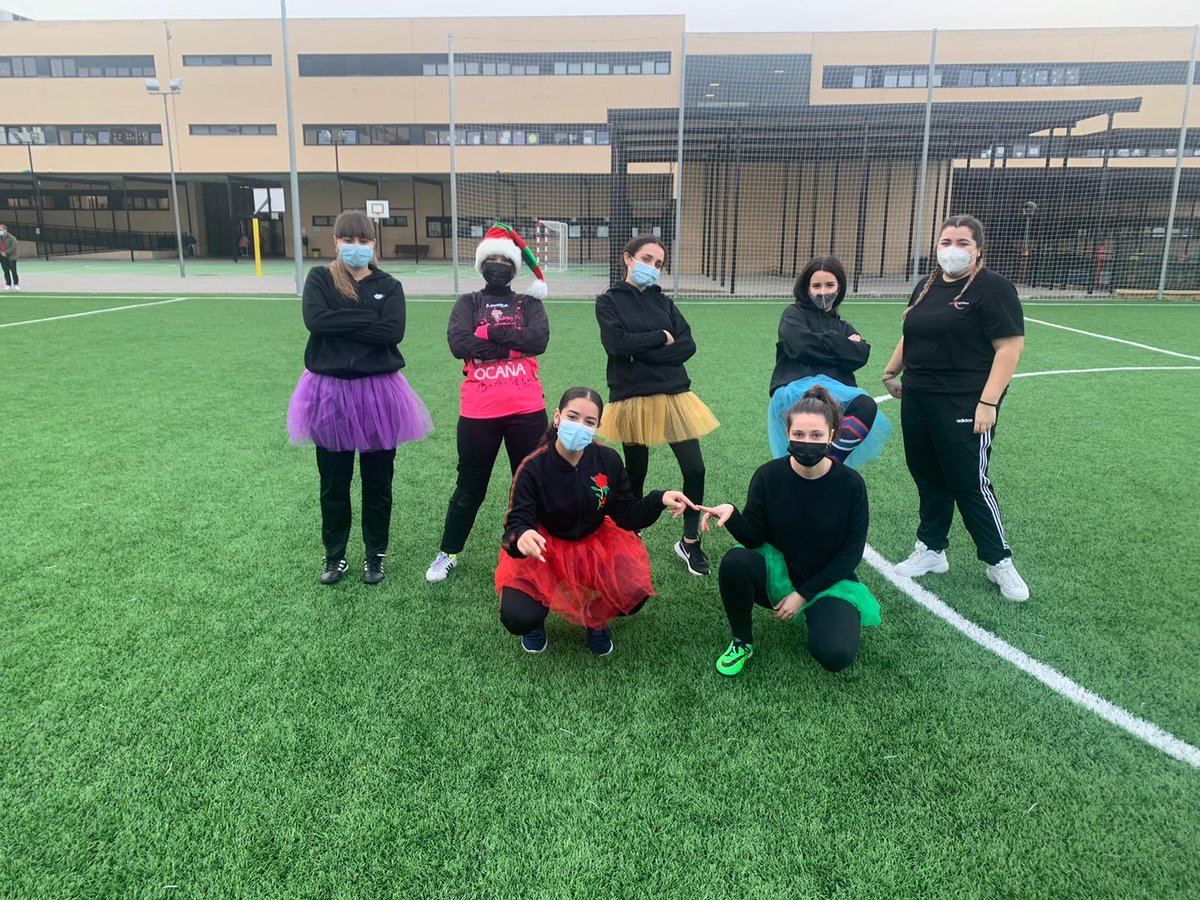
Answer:
[[(721, 601), (733, 637), (754, 643), (751, 614), (755, 604), (773, 608), (767, 599), (767, 560), (744, 547), (721, 559)], [(840, 672), (858, 655), (862, 617), (858, 608), (836, 596), (824, 596), (804, 610), (809, 625), (809, 653), (830, 672)]]

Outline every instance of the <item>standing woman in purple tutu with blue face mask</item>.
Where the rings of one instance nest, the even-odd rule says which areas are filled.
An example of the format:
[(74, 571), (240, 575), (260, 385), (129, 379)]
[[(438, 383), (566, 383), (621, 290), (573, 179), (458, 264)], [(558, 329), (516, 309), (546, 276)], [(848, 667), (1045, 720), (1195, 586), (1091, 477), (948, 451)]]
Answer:
[(323, 584), (346, 574), (350, 479), (359, 454), (362, 480), (362, 581), (383, 581), (391, 524), (396, 448), (433, 431), (428, 410), (400, 370), (404, 358), (404, 289), (374, 264), (374, 228), (364, 212), (334, 222), (337, 258), (308, 272), (304, 324), (305, 373), (288, 404), (293, 444), (317, 445), (320, 473)]

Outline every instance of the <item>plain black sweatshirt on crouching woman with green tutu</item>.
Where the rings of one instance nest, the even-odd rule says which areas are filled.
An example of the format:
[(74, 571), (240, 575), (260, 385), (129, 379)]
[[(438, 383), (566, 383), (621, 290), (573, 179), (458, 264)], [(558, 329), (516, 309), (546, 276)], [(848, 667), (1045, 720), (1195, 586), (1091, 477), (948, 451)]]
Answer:
[(769, 544), (787, 562), (792, 587), (805, 600), (839, 581), (858, 581), (869, 512), (862, 475), (833, 461), (818, 479), (796, 474), (790, 456), (758, 467), (746, 505), (727, 528), (745, 547)]

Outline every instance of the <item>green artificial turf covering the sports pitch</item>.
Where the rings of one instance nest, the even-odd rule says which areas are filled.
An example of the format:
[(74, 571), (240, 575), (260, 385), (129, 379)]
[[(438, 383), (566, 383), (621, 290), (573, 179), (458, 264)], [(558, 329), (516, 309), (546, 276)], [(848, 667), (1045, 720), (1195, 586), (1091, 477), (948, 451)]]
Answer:
[[(98, 308), (18, 313), (29, 300), (7, 320)], [(708, 498), (740, 500), (766, 451), (779, 308), (684, 308), (696, 390), (722, 421), (704, 442)], [(1031, 314), (1117, 336), (1152, 322), (1133, 340), (1182, 352), (1200, 341), (1195, 308), (1111, 308)], [(845, 312), (875, 344), (874, 383), (899, 307)], [(527, 656), (491, 589), (500, 466), (462, 564), (425, 584), (455, 461), (448, 313), (409, 308), (406, 373), (438, 431), (397, 456), (377, 588), (316, 581), (312, 451), (283, 428), (305, 338), (296, 301), (0, 331), (0, 895), (1200, 893), (1196, 770), (865, 565), (884, 622), (838, 676), (806, 658), (803, 626), (760, 617), (755, 659), (721, 679), (715, 578), (682, 572), (666, 518), (647, 532), (659, 598), (617, 623), (613, 656), (592, 658), (554, 620), (548, 653)], [(601, 386), (589, 307), (550, 316), (547, 394)], [(1031, 324), (1021, 368), (1176, 364)], [(1033, 599), (1001, 600), (960, 526), (950, 574), (923, 580), (1192, 743), (1198, 377), (1018, 382), (992, 474)], [(870, 540), (895, 560), (916, 527), (899, 434), (864, 474)], [(648, 487), (677, 480), (654, 452)], [(714, 563), (728, 545), (709, 539)]]

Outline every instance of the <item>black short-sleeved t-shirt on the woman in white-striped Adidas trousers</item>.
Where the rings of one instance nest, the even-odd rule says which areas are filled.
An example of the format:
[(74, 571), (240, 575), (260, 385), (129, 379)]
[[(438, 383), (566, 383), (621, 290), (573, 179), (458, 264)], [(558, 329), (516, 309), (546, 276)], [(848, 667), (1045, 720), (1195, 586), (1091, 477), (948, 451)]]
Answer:
[[(959, 298), (965, 283), (964, 278), (948, 282), (938, 276), (917, 308), (905, 317), (905, 388), (930, 394), (979, 394), (996, 355), (991, 342), (1025, 334), (1021, 301), (1013, 282), (984, 269)], [(910, 307), (923, 288), (924, 282), (913, 289)]]

